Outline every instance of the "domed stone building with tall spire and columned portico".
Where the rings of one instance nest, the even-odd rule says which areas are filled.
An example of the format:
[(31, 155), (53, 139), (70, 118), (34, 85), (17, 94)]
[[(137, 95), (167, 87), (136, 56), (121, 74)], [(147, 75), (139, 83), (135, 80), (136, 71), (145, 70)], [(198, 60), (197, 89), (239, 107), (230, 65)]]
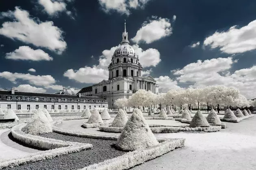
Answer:
[[(108, 66), (108, 80), (98, 84), (82, 88), (78, 94), (83, 96), (99, 96), (108, 101), (108, 108), (115, 108), (114, 103), (118, 98), (128, 98), (139, 89), (145, 89), (158, 94), (156, 80), (150, 75), (141, 75), (142, 66), (139, 63), (139, 56), (130, 45), (126, 23), (122, 41), (112, 55), (111, 63)], [(100, 107), (96, 104), (94, 107)]]

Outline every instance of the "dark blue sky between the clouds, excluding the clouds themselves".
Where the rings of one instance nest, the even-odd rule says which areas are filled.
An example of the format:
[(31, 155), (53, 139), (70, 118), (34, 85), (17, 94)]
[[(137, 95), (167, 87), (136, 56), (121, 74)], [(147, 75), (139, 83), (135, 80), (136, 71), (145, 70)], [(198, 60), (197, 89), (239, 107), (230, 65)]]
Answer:
[[(0, 34), (0, 72), (30, 73), (32, 75), (51, 75), (55, 79), (52, 85), (62, 85), (80, 89), (92, 83), (80, 83), (63, 73), (69, 69), (79, 70), (85, 66), (93, 67), (99, 64), (99, 57), (102, 51), (111, 49), (121, 42), (121, 33), (124, 30), (124, 19), (129, 39), (134, 37), (141, 28), (144, 21), (152, 19), (151, 16), (169, 19), (172, 34), (165, 36), (152, 43), (139, 43), (143, 50), (156, 49), (160, 53), (161, 62), (155, 67), (150, 66), (145, 70), (152, 72), (152, 77), (169, 76), (172, 81), (177, 81), (176, 85), (188, 87), (195, 81), (178, 81), (177, 75), (171, 70), (182, 69), (184, 66), (197, 62), (197, 60), (210, 60), (213, 58), (227, 58), (233, 56), (232, 67), (223, 69), (232, 74), (235, 70), (250, 68), (256, 64), (255, 50), (248, 50), (240, 53), (226, 53), (219, 47), (202, 47), (205, 38), (217, 32), (227, 32), (232, 26), (241, 28), (256, 19), (255, 0), (149, 0), (144, 8), (130, 10), (130, 15), (121, 14), (115, 10), (106, 13), (97, 0), (72, 0), (72, 2), (62, 0), (67, 4), (66, 9), (72, 12), (72, 19), (65, 12), (59, 12), (58, 16), (50, 16), (44, 11), (36, 0), (8, 0), (0, 2), (0, 12), (14, 11), (15, 6), (28, 11), (30, 18), (39, 19), (41, 22), (52, 21), (63, 31), (63, 40), (67, 43), (67, 48), (62, 54), (57, 54), (45, 47), (37, 47), (33, 43), (25, 43), (17, 38), (9, 38)], [(176, 20), (173, 21), (173, 16)], [(2, 24), (15, 19), (2, 17)], [(252, 34), (256, 35), (256, 34)], [(255, 39), (254, 39), (255, 40)], [(190, 46), (200, 42), (195, 48)], [(130, 40), (130, 44), (135, 43)], [(6, 59), (6, 53), (10, 53), (20, 46), (28, 46), (32, 49), (42, 49), (48, 53), (52, 61), (29, 61)], [(91, 58), (91, 56), (94, 56)], [(139, 56), (140, 57), (140, 56)], [(34, 68), (36, 72), (28, 72)], [(211, 74), (209, 72), (209, 74)], [(0, 78), (1, 88), (17, 87), (18, 85), (30, 84), (31, 86), (44, 88), (43, 85), (35, 85), (25, 79), (17, 78), (13, 84), (6, 77)], [(85, 81), (83, 81), (85, 82)], [(90, 82), (90, 81), (89, 81)], [(174, 83), (175, 84), (175, 83)], [(161, 82), (159, 83), (161, 85)], [(168, 87), (168, 84), (166, 85)], [(171, 86), (170, 86), (171, 87)], [(55, 89), (48, 88), (47, 92), (54, 92)]]

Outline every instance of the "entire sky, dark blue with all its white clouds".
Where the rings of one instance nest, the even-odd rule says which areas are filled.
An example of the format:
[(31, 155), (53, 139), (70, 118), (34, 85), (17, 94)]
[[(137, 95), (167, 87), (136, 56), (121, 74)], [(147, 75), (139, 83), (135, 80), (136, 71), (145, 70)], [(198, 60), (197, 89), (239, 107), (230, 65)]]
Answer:
[(168, 89), (226, 85), (256, 98), (255, 0), (0, 2), (0, 88), (56, 92), (108, 79), (126, 29), (143, 74)]

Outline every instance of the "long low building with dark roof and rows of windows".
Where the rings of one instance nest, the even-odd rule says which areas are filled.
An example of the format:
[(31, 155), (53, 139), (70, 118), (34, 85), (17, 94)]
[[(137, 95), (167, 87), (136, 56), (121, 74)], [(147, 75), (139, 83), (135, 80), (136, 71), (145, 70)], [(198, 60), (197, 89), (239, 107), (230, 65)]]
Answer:
[(65, 91), (60, 94), (30, 93), (11, 90), (0, 90), (0, 106), (2, 110), (82, 110), (93, 108), (108, 108), (108, 102), (97, 96), (67, 95)]

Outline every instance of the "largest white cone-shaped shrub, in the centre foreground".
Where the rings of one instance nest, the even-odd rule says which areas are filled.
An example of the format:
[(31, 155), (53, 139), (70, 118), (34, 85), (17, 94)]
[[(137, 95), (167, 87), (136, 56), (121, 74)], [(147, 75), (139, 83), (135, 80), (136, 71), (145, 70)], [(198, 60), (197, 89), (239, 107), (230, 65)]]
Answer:
[(115, 145), (123, 151), (134, 151), (158, 143), (139, 109), (134, 109)]

